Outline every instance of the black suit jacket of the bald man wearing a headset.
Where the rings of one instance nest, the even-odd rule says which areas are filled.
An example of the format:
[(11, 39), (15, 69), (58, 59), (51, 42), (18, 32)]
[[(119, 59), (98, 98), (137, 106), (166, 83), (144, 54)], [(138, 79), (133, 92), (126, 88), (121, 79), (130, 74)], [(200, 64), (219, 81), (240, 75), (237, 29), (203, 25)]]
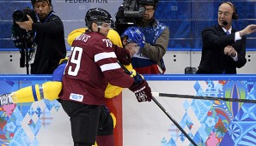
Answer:
[[(221, 26), (206, 27), (202, 31), (202, 56), (198, 70), (201, 73), (235, 74), (236, 67), (243, 67), (246, 62), (246, 37), (235, 42), (235, 29), (227, 35)], [(238, 61), (224, 55), (224, 48), (231, 45), (237, 52)], [(202, 72), (203, 71), (203, 72)]]

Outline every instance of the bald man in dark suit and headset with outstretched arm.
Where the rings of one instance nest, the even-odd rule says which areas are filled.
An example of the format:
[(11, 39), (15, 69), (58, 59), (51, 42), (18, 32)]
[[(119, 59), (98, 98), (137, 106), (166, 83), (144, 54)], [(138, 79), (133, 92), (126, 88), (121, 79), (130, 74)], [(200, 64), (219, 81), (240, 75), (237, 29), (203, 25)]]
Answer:
[(218, 25), (202, 31), (202, 56), (197, 74), (236, 74), (236, 67), (246, 62), (246, 36), (256, 32), (256, 25), (249, 25), (240, 32), (232, 28), (238, 15), (233, 3), (223, 2), (218, 9)]

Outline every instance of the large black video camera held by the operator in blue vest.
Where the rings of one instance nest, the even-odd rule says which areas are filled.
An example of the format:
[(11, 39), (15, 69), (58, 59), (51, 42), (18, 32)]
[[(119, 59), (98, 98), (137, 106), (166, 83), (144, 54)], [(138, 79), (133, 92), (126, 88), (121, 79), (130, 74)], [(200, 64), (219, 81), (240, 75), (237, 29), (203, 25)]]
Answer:
[(136, 20), (143, 17), (145, 8), (138, 0), (124, 0), (116, 14), (115, 29), (121, 35), (129, 26), (135, 26)]

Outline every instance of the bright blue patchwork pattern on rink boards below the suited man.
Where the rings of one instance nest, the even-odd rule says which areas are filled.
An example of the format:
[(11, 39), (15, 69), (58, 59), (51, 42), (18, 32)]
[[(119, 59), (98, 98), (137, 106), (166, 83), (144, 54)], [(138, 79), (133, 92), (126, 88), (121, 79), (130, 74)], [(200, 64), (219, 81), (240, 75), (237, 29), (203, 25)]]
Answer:
[[(207, 88), (202, 88), (202, 83), (195, 82), (196, 96), (232, 97), (237, 99), (255, 100), (255, 82), (248, 81), (205, 81)], [(204, 85), (203, 85), (204, 86)], [(187, 88), (187, 87), (186, 87)], [(184, 103), (187, 108), (187, 103)], [(256, 105), (241, 102), (193, 100), (188, 105), (192, 114), (184, 114), (180, 126), (192, 137), (198, 145), (225, 146), (225, 145), (253, 145), (256, 143)], [(192, 134), (193, 123), (201, 123), (197, 132)], [(179, 129), (173, 125), (170, 128), (170, 139), (163, 137), (162, 146), (179, 145), (186, 137), (180, 136)], [(175, 131), (176, 129), (176, 131)]]

